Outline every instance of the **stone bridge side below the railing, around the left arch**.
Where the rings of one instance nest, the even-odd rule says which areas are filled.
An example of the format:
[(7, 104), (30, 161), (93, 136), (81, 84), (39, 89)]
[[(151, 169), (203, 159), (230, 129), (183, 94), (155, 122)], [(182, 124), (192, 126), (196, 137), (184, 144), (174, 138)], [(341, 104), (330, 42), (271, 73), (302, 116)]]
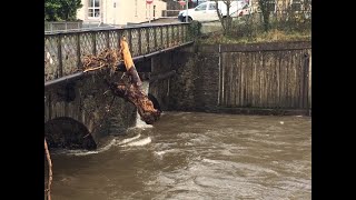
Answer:
[[(103, 136), (120, 133), (135, 126), (135, 106), (107, 92), (103, 74), (106, 72), (98, 72), (77, 81), (46, 88), (44, 134), (49, 146), (66, 147), (66, 143), (70, 143), (71, 147), (68, 148), (76, 148), (88, 142), (89, 132), (96, 144), (100, 146)], [(110, 79), (119, 77), (120, 74)], [(69, 126), (63, 126), (65, 123)], [(76, 127), (80, 130), (78, 128), (76, 131)], [(67, 142), (68, 140), (72, 142)]]

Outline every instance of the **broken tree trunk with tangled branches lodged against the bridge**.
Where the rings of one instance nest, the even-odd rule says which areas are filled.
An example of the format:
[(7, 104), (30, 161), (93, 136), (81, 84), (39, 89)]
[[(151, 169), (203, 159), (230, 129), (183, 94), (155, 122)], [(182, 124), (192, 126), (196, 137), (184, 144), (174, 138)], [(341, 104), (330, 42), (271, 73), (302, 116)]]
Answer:
[(129, 81), (125, 82), (122, 78), (119, 82), (110, 82), (108, 80), (105, 81), (115, 96), (123, 98), (135, 104), (142, 121), (145, 121), (147, 124), (152, 124), (159, 119), (161, 111), (160, 109), (157, 109), (157, 103), (155, 108), (152, 101), (141, 89), (142, 82), (137, 73), (125, 37), (120, 39), (119, 50), (106, 49), (98, 56), (87, 56), (83, 58), (82, 63), (85, 72), (106, 67), (109, 67), (115, 71), (122, 61), (126, 67), (125, 74), (129, 77)]

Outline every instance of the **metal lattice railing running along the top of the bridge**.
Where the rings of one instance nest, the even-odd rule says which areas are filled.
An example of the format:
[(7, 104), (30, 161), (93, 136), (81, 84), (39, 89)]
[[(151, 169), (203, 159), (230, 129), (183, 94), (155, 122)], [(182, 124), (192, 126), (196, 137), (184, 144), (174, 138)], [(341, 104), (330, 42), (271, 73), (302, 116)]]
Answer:
[(189, 23), (151, 23), (145, 26), (67, 31), (44, 34), (44, 82), (81, 71), (85, 56), (106, 48), (118, 49), (126, 36), (132, 57), (140, 57), (181, 46), (188, 37)]

